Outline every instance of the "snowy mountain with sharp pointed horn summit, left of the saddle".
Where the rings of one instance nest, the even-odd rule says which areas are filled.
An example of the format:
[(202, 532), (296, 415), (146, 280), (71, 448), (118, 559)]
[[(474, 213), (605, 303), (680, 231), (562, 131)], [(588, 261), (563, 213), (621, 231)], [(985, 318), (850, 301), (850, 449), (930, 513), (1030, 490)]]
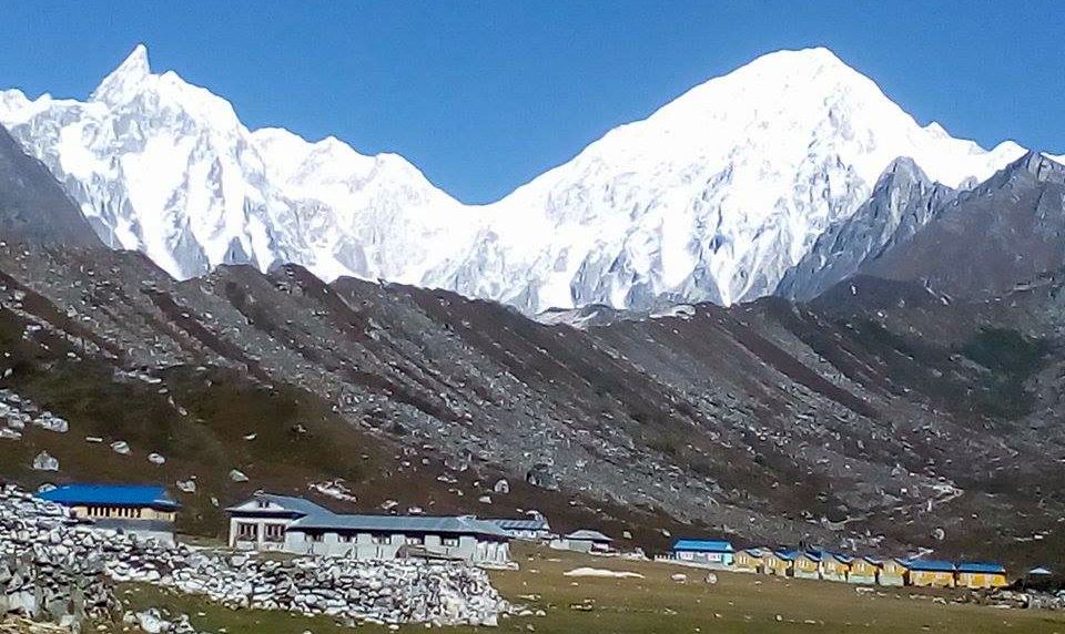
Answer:
[(2, 93), (0, 122), (104, 242), (179, 278), (295, 262), (326, 279), (418, 282), (435, 234), (463, 213), (400, 156), (248, 131), (224, 99), (152, 73), (143, 47), (87, 102)]

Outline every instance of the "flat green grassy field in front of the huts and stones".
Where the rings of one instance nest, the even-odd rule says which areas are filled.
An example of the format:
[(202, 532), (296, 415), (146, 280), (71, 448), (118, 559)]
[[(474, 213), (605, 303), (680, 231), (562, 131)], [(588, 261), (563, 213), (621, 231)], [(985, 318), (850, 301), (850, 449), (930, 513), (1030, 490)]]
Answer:
[[(779, 579), (718, 572), (716, 584), (706, 571), (665, 563), (630, 562), (518, 545), (520, 571), (493, 572), (496, 587), (508, 600), (545, 616), (515, 616), (498, 628), (452, 628), (469, 632), (539, 633), (700, 633), (700, 632), (960, 632), (1065, 634), (1065, 614), (1002, 610), (951, 603), (951, 592), (874, 589), (825, 581)], [(568, 577), (580, 566), (631, 571), (643, 579)], [(671, 575), (688, 575), (678, 583)], [(911, 597), (920, 596), (917, 599)], [(281, 612), (231, 611), (200, 597), (181, 596), (146, 586), (125, 586), (122, 597), (136, 610), (165, 607), (187, 613), (200, 628), (227, 634), (331, 634), (351, 632), (328, 618), (305, 618)], [(943, 602), (946, 602), (945, 604)], [(575, 609), (579, 606), (580, 609)], [(424, 631), (422, 625), (404, 631)], [(359, 627), (359, 632), (384, 632)]]

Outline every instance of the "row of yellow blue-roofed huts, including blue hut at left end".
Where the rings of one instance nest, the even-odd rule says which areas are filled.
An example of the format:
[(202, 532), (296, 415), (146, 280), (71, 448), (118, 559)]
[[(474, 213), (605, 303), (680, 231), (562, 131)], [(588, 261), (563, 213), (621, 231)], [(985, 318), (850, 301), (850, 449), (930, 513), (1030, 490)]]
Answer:
[(1008, 585), (997, 563), (848, 555), (815, 549), (736, 551), (722, 540), (678, 540), (670, 559), (734, 572), (823, 579), (865, 585), (988, 589)]

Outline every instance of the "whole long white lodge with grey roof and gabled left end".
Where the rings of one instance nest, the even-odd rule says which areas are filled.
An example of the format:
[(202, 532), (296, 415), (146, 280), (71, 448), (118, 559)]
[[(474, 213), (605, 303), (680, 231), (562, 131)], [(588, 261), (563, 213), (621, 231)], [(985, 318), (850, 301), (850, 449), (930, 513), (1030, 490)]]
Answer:
[(503, 565), (506, 531), (471, 517), (334, 513), (302, 498), (261, 493), (230, 514), (230, 546), (356, 559), (417, 558)]

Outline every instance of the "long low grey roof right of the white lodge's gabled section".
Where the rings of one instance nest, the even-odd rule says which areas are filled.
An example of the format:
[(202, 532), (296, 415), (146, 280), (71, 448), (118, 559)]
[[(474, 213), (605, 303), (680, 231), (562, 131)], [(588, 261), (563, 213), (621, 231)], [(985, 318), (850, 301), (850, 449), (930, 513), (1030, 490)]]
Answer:
[(288, 526), (290, 531), (368, 531), (383, 533), (445, 533), (509, 538), (498, 525), (471, 517), (433, 515), (307, 515)]

